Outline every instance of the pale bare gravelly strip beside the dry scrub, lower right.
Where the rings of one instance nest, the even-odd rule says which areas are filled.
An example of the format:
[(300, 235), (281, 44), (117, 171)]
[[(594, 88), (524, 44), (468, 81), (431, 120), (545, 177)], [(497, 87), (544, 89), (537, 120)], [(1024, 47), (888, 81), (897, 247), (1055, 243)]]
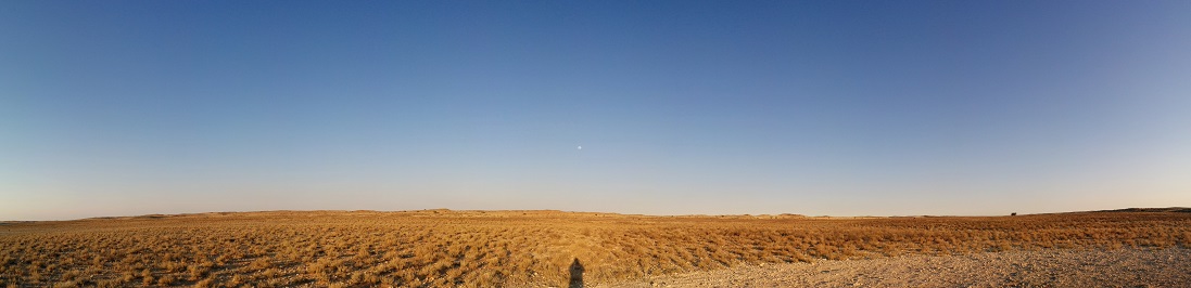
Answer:
[(588, 287), (1191, 287), (1191, 249), (1043, 250), (821, 261)]

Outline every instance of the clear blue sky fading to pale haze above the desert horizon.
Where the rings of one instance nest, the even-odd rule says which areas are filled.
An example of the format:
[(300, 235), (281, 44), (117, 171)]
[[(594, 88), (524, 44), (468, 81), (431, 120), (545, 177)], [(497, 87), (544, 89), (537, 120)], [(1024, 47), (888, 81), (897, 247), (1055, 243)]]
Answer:
[(1161, 0), (0, 1), (0, 219), (1191, 206), (1189, 14)]

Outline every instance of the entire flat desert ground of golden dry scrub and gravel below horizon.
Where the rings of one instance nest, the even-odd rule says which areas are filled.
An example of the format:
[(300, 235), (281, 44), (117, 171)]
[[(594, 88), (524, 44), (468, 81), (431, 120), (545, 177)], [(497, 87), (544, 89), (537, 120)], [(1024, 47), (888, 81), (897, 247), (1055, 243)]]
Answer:
[[(572, 276), (588, 287), (1186, 286), (1186, 264), (1172, 264), (1187, 263), (1191, 248), (1191, 213), (1180, 211), (917, 218), (313, 211), (5, 223), (0, 286), (567, 287)], [(1122, 263), (1134, 264), (1114, 268)]]

